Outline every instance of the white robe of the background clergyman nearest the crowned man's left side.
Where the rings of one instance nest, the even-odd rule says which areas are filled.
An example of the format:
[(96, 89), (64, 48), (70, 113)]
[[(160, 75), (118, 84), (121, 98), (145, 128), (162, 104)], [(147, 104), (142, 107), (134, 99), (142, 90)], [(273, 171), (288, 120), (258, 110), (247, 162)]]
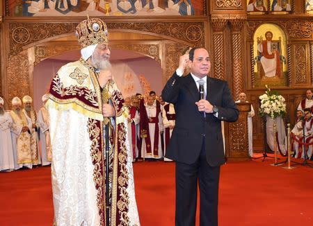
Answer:
[(49, 115), (45, 107), (40, 108), (37, 123), (40, 128), (41, 162), (42, 166), (47, 166), (51, 164), (52, 149), (49, 132)]

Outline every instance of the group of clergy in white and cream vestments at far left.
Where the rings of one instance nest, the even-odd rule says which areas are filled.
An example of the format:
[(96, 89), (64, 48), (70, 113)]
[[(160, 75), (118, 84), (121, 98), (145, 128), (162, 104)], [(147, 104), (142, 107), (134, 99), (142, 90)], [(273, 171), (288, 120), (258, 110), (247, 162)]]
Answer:
[[(45, 103), (48, 96), (42, 96)], [(33, 110), (31, 96), (12, 99), (12, 110), (4, 110), (0, 97), (0, 171), (51, 164), (49, 117), (45, 107)]]

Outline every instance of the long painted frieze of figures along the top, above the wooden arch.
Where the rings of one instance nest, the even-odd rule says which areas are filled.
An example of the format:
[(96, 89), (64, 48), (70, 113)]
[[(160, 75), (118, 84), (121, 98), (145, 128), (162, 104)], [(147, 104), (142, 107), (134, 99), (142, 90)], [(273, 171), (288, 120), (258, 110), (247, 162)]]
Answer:
[(203, 0), (7, 0), (9, 16), (201, 16)]

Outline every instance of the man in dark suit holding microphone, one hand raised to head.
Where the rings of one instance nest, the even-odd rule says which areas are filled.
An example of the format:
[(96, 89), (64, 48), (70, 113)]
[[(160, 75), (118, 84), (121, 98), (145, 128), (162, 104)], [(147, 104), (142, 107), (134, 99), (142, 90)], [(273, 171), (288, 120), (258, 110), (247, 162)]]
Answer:
[[(191, 73), (183, 76), (189, 66)], [(175, 105), (176, 125), (166, 157), (176, 161), (176, 226), (194, 226), (200, 188), (200, 226), (218, 225), (218, 182), (225, 163), (221, 121), (234, 122), (239, 111), (227, 82), (210, 78), (209, 53), (193, 48), (179, 58), (162, 98)], [(206, 98), (200, 100), (198, 80)]]

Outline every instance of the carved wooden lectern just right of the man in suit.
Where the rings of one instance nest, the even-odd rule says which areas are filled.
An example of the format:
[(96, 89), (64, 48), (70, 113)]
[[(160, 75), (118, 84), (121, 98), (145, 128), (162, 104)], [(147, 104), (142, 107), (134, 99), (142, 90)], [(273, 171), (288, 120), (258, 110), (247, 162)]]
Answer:
[(239, 109), (239, 118), (235, 123), (228, 123), (230, 135), (230, 148), (226, 151), (228, 160), (247, 160), (249, 156), (248, 146), (248, 112), (250, 103), (236, 103)]

